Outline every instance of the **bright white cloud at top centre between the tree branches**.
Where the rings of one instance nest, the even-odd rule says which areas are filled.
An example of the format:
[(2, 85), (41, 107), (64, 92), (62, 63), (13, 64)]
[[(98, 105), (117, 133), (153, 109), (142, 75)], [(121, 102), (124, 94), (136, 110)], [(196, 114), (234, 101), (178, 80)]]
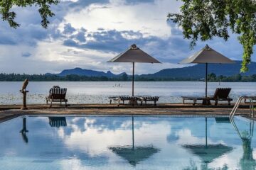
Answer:
[[(169, 0), (134, 2), (115, 0), (87, 4), (80, 10), (68, 13), (65, 16), (65, 21), (71, 23), (75, 28), (85, 26), (90, 32), (95, 32), (98, 28), (105, 28), (105, 30), (140, 31), (145, 36), (156, 35), (162, 38), (171, 35), (169, 25), (166, 23), (166, 15), (170, 10), (178, 11), (180, 2)], [(77, 5), (79, 3), (82, 6), (80, 1), (77, 2)]]

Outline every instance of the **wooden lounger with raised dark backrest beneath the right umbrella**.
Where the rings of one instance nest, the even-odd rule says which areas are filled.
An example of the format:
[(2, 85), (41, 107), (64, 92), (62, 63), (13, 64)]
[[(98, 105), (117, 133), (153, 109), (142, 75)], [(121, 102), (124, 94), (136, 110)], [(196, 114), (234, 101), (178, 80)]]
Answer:
[(217, 88), (213, 96), (209, 97), (197, 97), (197, 96), (181, 96), (183, 99), (183, 103), (185, 100), (193, 101), (193, 105), (196, 104), (196, 101), (202, 100), (203, 103), (210, 104), (210, 101), (215, 101), (215, 105), (218, 104), (218, 101), (228, 101), (228, 105), (230, 105), (230, 101), (233, 101), (233, 98), (229, 98), (231, 88)]

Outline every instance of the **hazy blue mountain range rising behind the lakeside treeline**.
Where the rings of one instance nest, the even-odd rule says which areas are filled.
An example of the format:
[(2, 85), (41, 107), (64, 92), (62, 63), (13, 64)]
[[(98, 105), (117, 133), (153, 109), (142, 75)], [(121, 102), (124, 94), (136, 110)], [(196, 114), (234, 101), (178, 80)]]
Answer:
[[(235, 64), (208, 64), (208, 74), (215, 73), (217, 76), (220, 76), (220, 75), (233, 76), (235, 74), (240, 74), (240, 67), (241, 67), (241, 61), (236, 61)], [(206, 74), (205, 70), (206, 70), (205, 64), (196, 64), (193, 66), (183, 67), (183, 68), (162, 69), (161, 71), (156, 72), (154, 74), (142, 74), (142, 75), (137, 75), (137, 77), (201, 79), (205, 77), (205, 74)], [(120, 77), (125, 73), (113, 74), (110, 71), (99, 72), (99, 71), (90, 70), (90, 69), (75, 68), (75, 69), (65, 69), (59, 74), (54, 74), (54, 75), (64, 77), (70, 74), (87, 76), (87, 77), (111, 78), (111, 77)], [(252, 74), (256, 74), (256, 62), (251, 62), (251, 64), (249, 65), (249, 72), (243, 73), (242, 75), (252, 75)]]

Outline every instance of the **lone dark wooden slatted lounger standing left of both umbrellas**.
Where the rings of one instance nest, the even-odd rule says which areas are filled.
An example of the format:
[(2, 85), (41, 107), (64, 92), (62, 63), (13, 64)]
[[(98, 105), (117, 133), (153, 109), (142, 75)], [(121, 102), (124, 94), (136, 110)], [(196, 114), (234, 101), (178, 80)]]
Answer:
[(65, 106), (67, 105), (68, 99), (65, 98), (67, 93), (66, 88), (60, 88), (59, 86), (53, 86), (53, 88), (49, 91), (49, 96), (46, 97), (46, 104), (48, 105), (48, 101), (50, 101), (50, 107), (53, 106), (53, 102), (65, 102)]

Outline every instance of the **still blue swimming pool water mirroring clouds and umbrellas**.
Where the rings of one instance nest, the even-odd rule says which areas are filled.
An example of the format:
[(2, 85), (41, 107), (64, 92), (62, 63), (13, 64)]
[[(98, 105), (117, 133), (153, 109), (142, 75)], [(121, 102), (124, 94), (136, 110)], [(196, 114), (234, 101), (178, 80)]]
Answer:
[(0, 169), (255, 169), (253, 122), (235, 124), (242, 139), (225, 118), (206, 134), (206, 118), (135, 116), (133, 141), (131, 116), (28, 116), (23, 133), (15, 118), (0, 124)]

